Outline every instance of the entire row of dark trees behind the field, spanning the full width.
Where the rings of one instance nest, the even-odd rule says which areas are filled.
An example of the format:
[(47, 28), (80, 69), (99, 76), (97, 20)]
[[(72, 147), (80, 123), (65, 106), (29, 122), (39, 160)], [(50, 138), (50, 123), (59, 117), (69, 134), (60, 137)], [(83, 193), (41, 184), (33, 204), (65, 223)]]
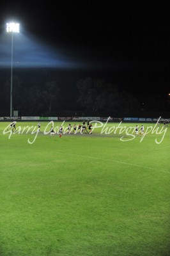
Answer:
[[(13, 77), (13, 109), (19, 110), (20, 115), (52, 115), (55, 111), (75, 110), (93, 113), (132, 113), (135, 111), (166, 111), (169, 100), (161, 95), (149, 95), (142, 105), (128, 87), (121, 88), (119, 84), (106, 83), (104, 79), (86, 77), (77, 81), (75, 88), (78, 94), (65, 91), (56, 81), (41, 82), (29, 86), (18, 76)], [(0, 82), (0, 108), (9, 111), (10, 108), (10, 79)], [(75, 97), (74, 105), (67, 104), (66, 100)]]

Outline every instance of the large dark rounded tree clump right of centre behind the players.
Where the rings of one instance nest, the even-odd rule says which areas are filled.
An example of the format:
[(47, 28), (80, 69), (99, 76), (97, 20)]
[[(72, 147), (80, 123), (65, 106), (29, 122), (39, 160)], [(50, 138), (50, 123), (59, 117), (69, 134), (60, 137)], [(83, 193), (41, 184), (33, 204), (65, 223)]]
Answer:
[(130, 93), (120, 89), (118, 84), (106, 83), (104, 79), (86, 77), (77, 82), (77, 102), (86, 110), (118, 113), (139, 108), (139, 102)]

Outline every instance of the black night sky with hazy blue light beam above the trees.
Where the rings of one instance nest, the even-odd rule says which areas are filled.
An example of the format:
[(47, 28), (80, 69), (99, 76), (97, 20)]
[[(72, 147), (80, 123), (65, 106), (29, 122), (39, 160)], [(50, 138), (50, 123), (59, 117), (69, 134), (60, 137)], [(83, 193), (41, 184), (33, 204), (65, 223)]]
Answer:
[[(146, 94), (167, 95), (168, 16), (153, 10), (140, 11), (141, 6), (128, 6), (129, 10), (124, 6), (123, 10), (121, 4), (118, 7), (112, 3), (1, 1), (1, 77), (2, 70), (10, 68), (10, 49), (6, 55), (3, 52), (8, 40), (4, 30), (13, 17), (20, 22), (23, 35), (20, 47), (19, 39), (15, 43), (16, 52), (20, 52), (16, 70), (20, 76), (29, 79), (37, 74), (38, 80), (43, 73), (65, 89), (73, 88), (79, 79), (88, 76), (104, 78), (108, 83), (123, 86), (141, 101)], [(25, 50), (24, 42), (29, 42)], [(8, 65), (4, 67), (4, 63)]]

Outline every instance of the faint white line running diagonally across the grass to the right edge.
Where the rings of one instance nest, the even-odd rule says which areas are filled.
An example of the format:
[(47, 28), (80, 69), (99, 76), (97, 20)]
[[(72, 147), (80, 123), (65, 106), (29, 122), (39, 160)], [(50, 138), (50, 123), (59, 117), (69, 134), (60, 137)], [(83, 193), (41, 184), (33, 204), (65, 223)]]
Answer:
[[(130, 165), (130, 166), (136, 166), (136, 167), (146, 168), (146, 169), (150, 169), (150, 170), (156, 170), (158, 172), (166, 172), (166, 171), (161, 171), (161, 170), (151, 168), (151, 167), (148, 167), (148, 166), (142, 166), (142, 165), (138, 165), (138, 164), (130, 164), (130, 163), (125, 163), (125, 162), (120, 162), (120, 161), (115, 161), (115, 160), (104, 159), (104, 158), (100, 158), (100, 157), (82, 156), (82, 155), (68, 154), (68, 153), (62, 153), (62, 152), (58, 152), (58, 153), (59, 154), (64, 154), (64, 155), (67, 155), (67, 156), (79, 156), (79, 157), (84, 157), (84, 158), (98, 159), (98, 160), (112, 162), (112, 163), (127, 164), (127, 165)], [(170, 172), (166, 172), (166, 173), (170, 174)]]

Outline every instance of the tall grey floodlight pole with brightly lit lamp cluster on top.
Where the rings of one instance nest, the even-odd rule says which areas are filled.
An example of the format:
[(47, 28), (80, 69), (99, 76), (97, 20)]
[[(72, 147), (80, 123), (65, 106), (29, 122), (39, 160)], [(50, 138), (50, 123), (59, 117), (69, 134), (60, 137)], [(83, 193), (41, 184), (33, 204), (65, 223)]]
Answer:
[(10, 90), (10, 117), (13, 116), (12, 111), (12, 83), (13, 83), (13, 32), (19, 33), (19, 23), (9, 22), (6, 23), (6, 32), (12, 33), (12, 62), (11, 62), (11, 90)]

